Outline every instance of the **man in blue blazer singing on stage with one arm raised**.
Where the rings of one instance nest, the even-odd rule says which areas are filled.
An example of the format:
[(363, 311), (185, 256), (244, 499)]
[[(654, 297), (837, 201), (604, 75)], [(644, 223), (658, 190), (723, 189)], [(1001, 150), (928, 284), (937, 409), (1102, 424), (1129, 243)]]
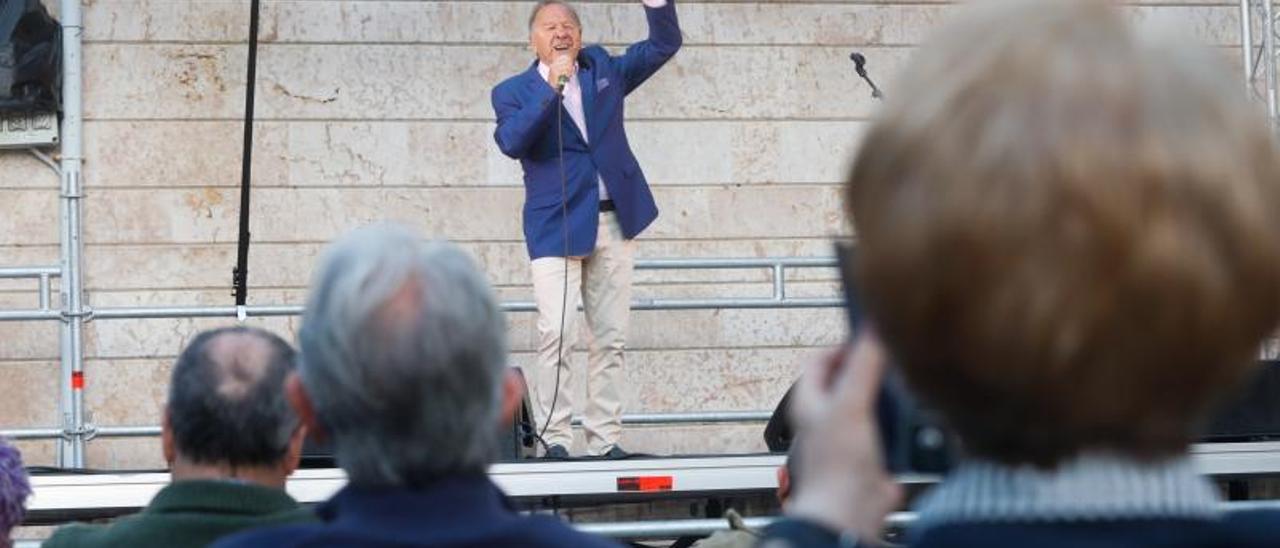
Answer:
[(623, 100), (680, 49), (675, 0), (643, 0), (649, 38), (609, 55), (582, 47), (577, 12), (539, 1), (529, 19), (538, 60), (493, 90), (494, 140), (525, 170), (525, 245), (538, 303), (535, 429), (547, 457), (572, 440), (568, 357), (579, 298), (591, 330), (582, 426), (591, 456), (623, 458), (622, 361), (635, 238), (658, 216), (622, 127)]

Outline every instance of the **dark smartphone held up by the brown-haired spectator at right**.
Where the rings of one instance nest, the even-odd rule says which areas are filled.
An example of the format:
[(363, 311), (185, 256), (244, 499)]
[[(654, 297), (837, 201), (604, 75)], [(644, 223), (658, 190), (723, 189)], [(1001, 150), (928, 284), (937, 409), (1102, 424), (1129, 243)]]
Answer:
[[(859, 330), (868, 324), (854, 270), (856, 248), (836, 242), (836, 264), (845, 293), (849, 343), (852, 344)], [(829, 378), (835, 378), (836, 373), (838, 371), (829, 371)], [(951, 467), (954, 440), (936, 420), (936, 415), (922, 408), (911, 397), (892, 362), (884, 371), (876, 397), (876, 426), (888, 471), (941, 474)]]

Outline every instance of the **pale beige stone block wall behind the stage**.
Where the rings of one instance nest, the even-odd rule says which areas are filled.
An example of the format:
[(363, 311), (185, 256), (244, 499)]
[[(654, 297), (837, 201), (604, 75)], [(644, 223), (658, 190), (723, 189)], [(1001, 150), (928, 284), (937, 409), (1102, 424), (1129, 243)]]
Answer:
[[(374, 220), (462, 243), (506, 300), (529, 300), (518, 165), (493, 145), (489, 90), (526, 67), (527, 1), (265, 0), (253, 154), (251, 303), (300, 303), (324, 242)], [(1238, 3), (1146, 1), (1236, 63)], [(84, 0), (84, 283), (91, 306), (229, 305), (247, 0)], [(681, 1), (685, 47), (630, 99), (662, 209), (640, 257), (824, 256), (838, 182), (874, 113), (849, 52), (892, 74), (954, 10), (937, 1)], [(582, 1), (584, 37), (645, 33), (639, 0)], [(1016, 22), (1010, 22), (1016, 24)], [(58, 181), (0, 154), (0, 265), (58, 261)], [(829, 273), (790, 277), (831, 296)], [(769, 294), (765, 271), (644, 271), (639, 297)], [(31, 307), (33, 284), (0, 284)], [(96, 320), (99, 425), (157, 424), (169, 364), (219, 320)], [(252, 321), (292, 337), (296, 321)], [(631, 412), (772, 408), (799, 361), (842, 337), (835, 310), (637, 311)], [(531, 314), (511, 315), (513, 362)], [(0, 429), (56, 425), (58, 330), (0, 323)], [(580, 356), (580, 360), (582, 357)], [(582, 375), (579, 375), (581, 378)], [(636, 428), (634, 451), (758, 451), (760, 425)], [(99, 439), (88, 465), (163, 466), (155, 440)], [(23, 443), (32, 465), (52, 443)]]

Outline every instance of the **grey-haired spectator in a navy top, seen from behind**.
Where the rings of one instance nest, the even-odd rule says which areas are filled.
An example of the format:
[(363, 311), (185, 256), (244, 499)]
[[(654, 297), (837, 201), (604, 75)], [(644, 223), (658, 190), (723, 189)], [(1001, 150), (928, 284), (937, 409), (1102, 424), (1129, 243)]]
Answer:
[(219, 547), (613, 545), (516, 513), (486, 476), (524, 394), (506, 318), (457, 246), (389, 225), (343, 237), (316, 270), (298, 339), (289, 398), (332, 439), (348, 484), (317, 508), (324, 524)]

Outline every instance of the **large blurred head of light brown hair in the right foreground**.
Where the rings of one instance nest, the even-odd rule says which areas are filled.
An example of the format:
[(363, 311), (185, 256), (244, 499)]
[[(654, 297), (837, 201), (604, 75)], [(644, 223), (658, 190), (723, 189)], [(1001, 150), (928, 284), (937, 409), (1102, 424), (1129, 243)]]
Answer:
[(847, 186), (869, 314), (977, 456), (1184, 451), (1280, 320), (1280, 161), (1217, 54), (1100, 1), (974, 8)]

